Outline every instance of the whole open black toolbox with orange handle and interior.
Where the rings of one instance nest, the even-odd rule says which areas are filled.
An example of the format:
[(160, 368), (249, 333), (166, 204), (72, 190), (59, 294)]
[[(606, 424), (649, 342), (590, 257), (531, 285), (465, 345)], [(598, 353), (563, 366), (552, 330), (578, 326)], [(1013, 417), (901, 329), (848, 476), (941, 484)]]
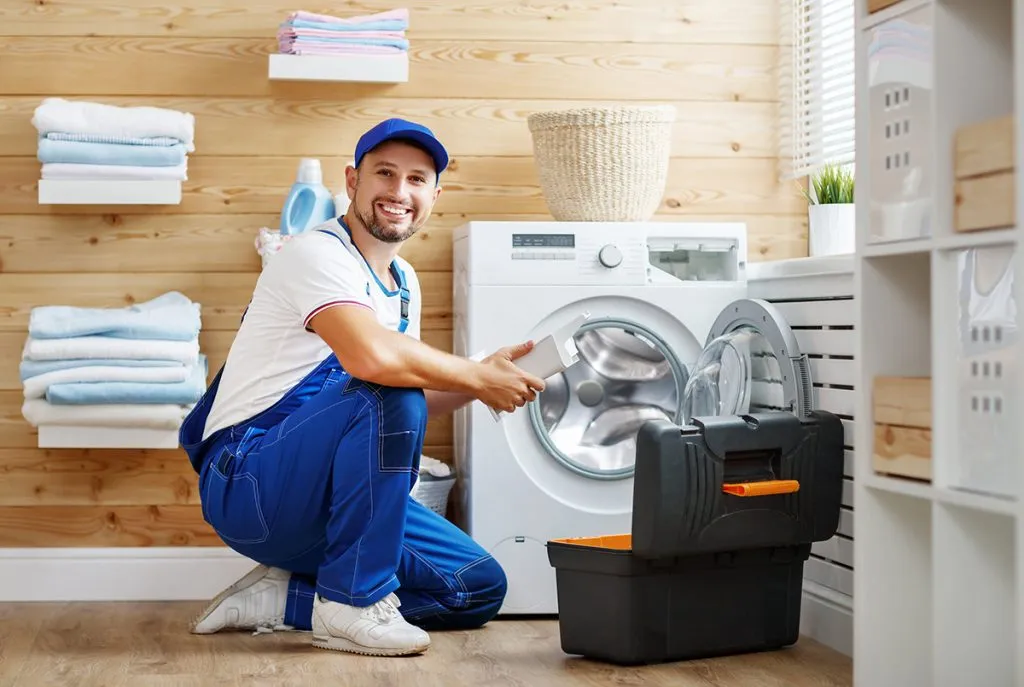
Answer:
[(796, 643), (843, 461), (843, 424), (821, 411), (644, 424), (632, 533), (548, 542), (562, 650), (638, 664)]

